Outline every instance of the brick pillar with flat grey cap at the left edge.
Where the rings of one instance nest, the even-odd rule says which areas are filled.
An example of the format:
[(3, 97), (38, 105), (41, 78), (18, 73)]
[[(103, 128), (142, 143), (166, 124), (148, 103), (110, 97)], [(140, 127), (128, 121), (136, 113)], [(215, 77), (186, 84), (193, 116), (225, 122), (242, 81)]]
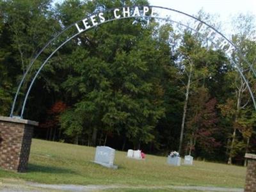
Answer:
[(37, 122), (0, 116), (0, 167), (26, 172), (33, 127)]

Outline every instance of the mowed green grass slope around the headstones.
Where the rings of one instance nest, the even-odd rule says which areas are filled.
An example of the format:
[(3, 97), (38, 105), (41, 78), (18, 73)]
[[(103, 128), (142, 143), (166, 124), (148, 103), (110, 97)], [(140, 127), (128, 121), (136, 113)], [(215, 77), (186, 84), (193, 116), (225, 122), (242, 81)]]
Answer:
[(246, 168), (194, 161), (193, 166), (170, 166), (166, 157), (128, 159), (116, 151), (118, 170), (92, 163), (95, 148), (33, 140), (27, 173), (0, 170), (0, 177), (49, 184), (120, 184), (131, 186), (220, 186), (243, 188)]

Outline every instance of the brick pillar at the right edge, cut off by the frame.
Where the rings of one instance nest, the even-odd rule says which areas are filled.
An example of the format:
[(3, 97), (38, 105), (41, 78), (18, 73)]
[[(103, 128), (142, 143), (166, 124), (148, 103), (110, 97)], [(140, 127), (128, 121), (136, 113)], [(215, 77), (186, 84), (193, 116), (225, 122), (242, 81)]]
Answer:
[(248, 161), (244, 192), (256, 192), (256, 155), (245, 154)]

